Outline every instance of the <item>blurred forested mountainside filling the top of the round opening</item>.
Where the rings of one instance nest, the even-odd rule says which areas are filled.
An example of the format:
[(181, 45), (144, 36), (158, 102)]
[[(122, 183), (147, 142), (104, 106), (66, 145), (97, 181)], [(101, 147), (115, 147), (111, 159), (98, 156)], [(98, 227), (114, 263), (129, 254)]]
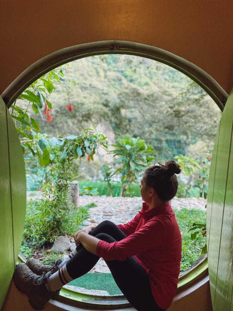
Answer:
[(106, 123), (116, 138), (144, 139), (158, 160), (186, 154), (198, 141), (212, 145), (221, 116), (213, 100), (184, 74), (137, 56), (76, 60), (64, 66), (64, 78), (55, 87), (48, 95), (52, 121), (35, 116), (41, 132), (69, 135)]

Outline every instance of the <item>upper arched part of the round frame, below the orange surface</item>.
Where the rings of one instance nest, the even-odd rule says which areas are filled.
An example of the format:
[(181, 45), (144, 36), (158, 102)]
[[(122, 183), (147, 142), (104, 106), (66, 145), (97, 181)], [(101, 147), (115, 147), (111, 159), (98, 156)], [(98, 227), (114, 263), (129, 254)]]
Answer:
[(210, 95), (210, 97), (212, 97), (222, 111), (224, 109), (228, 94), (210, 75), (208, 75), (208, 73), (204, 72), (198, 66), (184, 58), (180, 58), (173, 53), (154, 46), (119, 40), (79, 44), (51, 53), (39, 59), (22, 72), (10, 86), (3, 91), (1, 97), (9, 108), (30, 84), (46, 72), (75, 59), (98, 54), (130, 54), (164, 63), (194, 80)]

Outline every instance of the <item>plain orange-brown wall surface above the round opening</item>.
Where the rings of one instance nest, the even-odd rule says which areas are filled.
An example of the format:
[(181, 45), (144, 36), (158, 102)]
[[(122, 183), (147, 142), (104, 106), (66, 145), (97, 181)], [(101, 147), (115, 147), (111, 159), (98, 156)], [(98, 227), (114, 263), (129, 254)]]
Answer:
[(233, 86), (229, 0), (1, 0), (0, 12), (0, 94), (40, 58), (102, 40), (167, 50)]

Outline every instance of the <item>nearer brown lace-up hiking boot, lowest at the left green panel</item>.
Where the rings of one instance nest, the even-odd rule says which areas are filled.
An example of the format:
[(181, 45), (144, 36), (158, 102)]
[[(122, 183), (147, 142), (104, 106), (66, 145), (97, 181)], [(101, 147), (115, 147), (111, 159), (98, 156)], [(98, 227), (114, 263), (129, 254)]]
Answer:
[(25, 263), (19, 263), (15, 267), (13, 280), (16, 288), (28, 296), (30, 305), (36, 310), (42, 310), (46, 303), (54, 298), (56, 292), (49, 292), (47, 287), (48, 277), (51, 271), (39, 276), (33, 273)]

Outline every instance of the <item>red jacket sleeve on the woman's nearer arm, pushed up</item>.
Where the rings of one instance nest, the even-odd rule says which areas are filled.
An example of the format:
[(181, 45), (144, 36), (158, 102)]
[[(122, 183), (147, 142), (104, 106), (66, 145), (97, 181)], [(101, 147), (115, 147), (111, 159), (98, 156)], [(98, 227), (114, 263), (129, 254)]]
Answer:
[(159, 220), (149, 220), (138, 231), (121, 241), (108, 243), (99, 241), (97, 256), (106, 260), (126, 260), (127, 257), (142, 253), (151, 248), (158, 248), (165, 233), (165, 226)]

